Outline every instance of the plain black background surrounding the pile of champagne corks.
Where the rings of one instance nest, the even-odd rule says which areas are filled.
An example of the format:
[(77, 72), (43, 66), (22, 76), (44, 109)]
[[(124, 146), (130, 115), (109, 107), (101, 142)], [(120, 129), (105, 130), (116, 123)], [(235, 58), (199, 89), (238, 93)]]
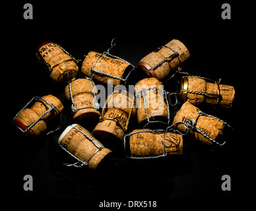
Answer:
[[(251, 130), (245, 127), (244, 118), (245, 88), (251, 81), (244, 77), (250, 75), (246, 50), (250, 41), (244, 20), (247, 16), (242, 13), (245, 6), (233, 1), (30, 1), (33, 20), (24, 20), (24, 3), (5, 7), (11, 16), (4, 24), (7, 62), (2, 70), (3, 80), (9, 81), (7, 86), (2, 85), (7, 94), (4, 108), (8, 111), (5, 129), (9, 136), (2, 136), (1, 141), (8, 196), (24, 200), (82, 198), (98, 207), (103, 200), (158, 200), (159, 206), (169, 206), (170, 198), (212, 200), (240, 198), (247, 193), (244, 188), (250, 186), (247, 180), (251, 174), (246, 154), (252, 140), (246, 135)], [(231, 5), (231, 20), (221, 18), (223, 3)], [(52, 82), (36, 60), (37, 45), (53, 40), (75, 58), (83, 58), (89, 51), (106, 51), (113, 38), (117, 38), (117, 44), (112, 53), (133, 65), (175, 38), (191, 53), (183, 71), (214, 80), (222, 78), (222, 84), (234, 86), (232, 109), (214, 113), (234, 127), (226, 146), (212, 150), (187, 138), (182, 156), (144, 162), (115, 158), (110, 168), (91, 171), (63, 167), (60, 158), (68, 158), (59, 152), (51, 137), (26, 138), (11, 125), (16, 113), (33, 96), (63, 93), (64, 86)], [(173, 88), (174, 83), (176, 80), (170, 80), (165, 89)], [(66, 103), (65, 112), (69, 113)], [(23, 189), (27, 174), (33, 177), (33, 191)], [(221, 189), (225, 174), (231, 177), (231, 191)]]

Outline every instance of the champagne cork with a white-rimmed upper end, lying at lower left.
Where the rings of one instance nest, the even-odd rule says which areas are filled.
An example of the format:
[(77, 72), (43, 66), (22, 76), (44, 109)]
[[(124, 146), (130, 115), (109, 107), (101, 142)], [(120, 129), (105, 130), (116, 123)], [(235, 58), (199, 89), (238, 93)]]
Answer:
[[(84, 134), (92, 138), (90, 140)], [(98, 164), (108, 155), (111, 150), (102, 148), (102, 144), (90, 135), (90, 133), (80, 125), (73, 124), (68, 126), (59, 136), (59, 144), (67, 151), (79, 158), (82, 162), (88, 162), (90, 169), (96, 169)]]

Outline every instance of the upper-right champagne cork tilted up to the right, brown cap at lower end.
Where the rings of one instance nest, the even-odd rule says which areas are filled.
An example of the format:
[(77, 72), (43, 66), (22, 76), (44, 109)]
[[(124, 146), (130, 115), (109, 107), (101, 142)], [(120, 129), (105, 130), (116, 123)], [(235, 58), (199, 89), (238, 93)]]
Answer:
[(189, 56), (187, 47), (179, 40), (174, 39), (146, 55), (137, 64), (137, 67), (143, 69), (150, 77), (164, 80), (176, 71), (181, 63), (189, 59)]

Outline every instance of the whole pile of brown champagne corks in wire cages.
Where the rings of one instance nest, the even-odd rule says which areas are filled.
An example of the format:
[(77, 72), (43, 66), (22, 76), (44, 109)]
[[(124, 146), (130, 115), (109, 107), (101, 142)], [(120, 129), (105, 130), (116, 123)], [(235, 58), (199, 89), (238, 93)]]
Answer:
[[(64, 109), (61, 100), (51, 94), (33, 98), (16, 114), (13, 123), (28, 136), (59, 133), (59, 147), (78, 160), (80, 166), (91, 169), (96, 169), (112, 151), (120, 150), (115, 148), (120, 143), (125, 157), (133, 159), (183, 154), (183, 136), (187, 134), (203, 144), (222, 146), (230, 125), (197, 106), (229, 109), (234, 101), (233, 86), (202, 76), (183, 76), (179, 91), (174, 93), (181, 107), (171, 118), (170, 93), (162, 85), (179, 73), (189, 56), (189, 50), (179, 40), (158, 47), (136, 66), (109, 52), (90, 51), (82, 61), (82, 77), (77, 77), (78, 60), (60, 45), (44, 42), (38, 46), (36, 57), (52, 80), (67, 84), (65, 97), (71, 103), (74, 124), (65, 125), (66, 128), (57, 125), (49, 131), (48, 123), (61, 119)], [(144, 75), (139, 77), (137, 73)], [(115, 90), (100, 112), (95, 82), (107, 85), (112, 80), (116, 87), (128, 85), (132, 81), (129, 78), (133, 79), (134, 93)], [(139, 129), (131, 130), (134, 119)], [(81, 126), (83, 122), (96, 122), (92, 133)]]

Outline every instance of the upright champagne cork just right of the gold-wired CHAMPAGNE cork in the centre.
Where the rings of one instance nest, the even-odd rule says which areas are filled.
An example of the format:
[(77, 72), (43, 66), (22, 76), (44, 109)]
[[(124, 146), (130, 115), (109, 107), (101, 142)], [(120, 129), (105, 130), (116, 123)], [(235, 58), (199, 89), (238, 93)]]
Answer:
[[(162, 93), (164, 86), (160, 85), (162, 85), (162, 82), (156, 78), (144, 78), (135, 85), (137, 117), (139, 123), (147, 119), (146, 111), (149, 118), (162, 116), (168, 119), (168, 107), (164, 101), (164, 94)], [(143, 88), (150, 88), (149, 90), (144, 90), (145, 102), (141, 92)]]

